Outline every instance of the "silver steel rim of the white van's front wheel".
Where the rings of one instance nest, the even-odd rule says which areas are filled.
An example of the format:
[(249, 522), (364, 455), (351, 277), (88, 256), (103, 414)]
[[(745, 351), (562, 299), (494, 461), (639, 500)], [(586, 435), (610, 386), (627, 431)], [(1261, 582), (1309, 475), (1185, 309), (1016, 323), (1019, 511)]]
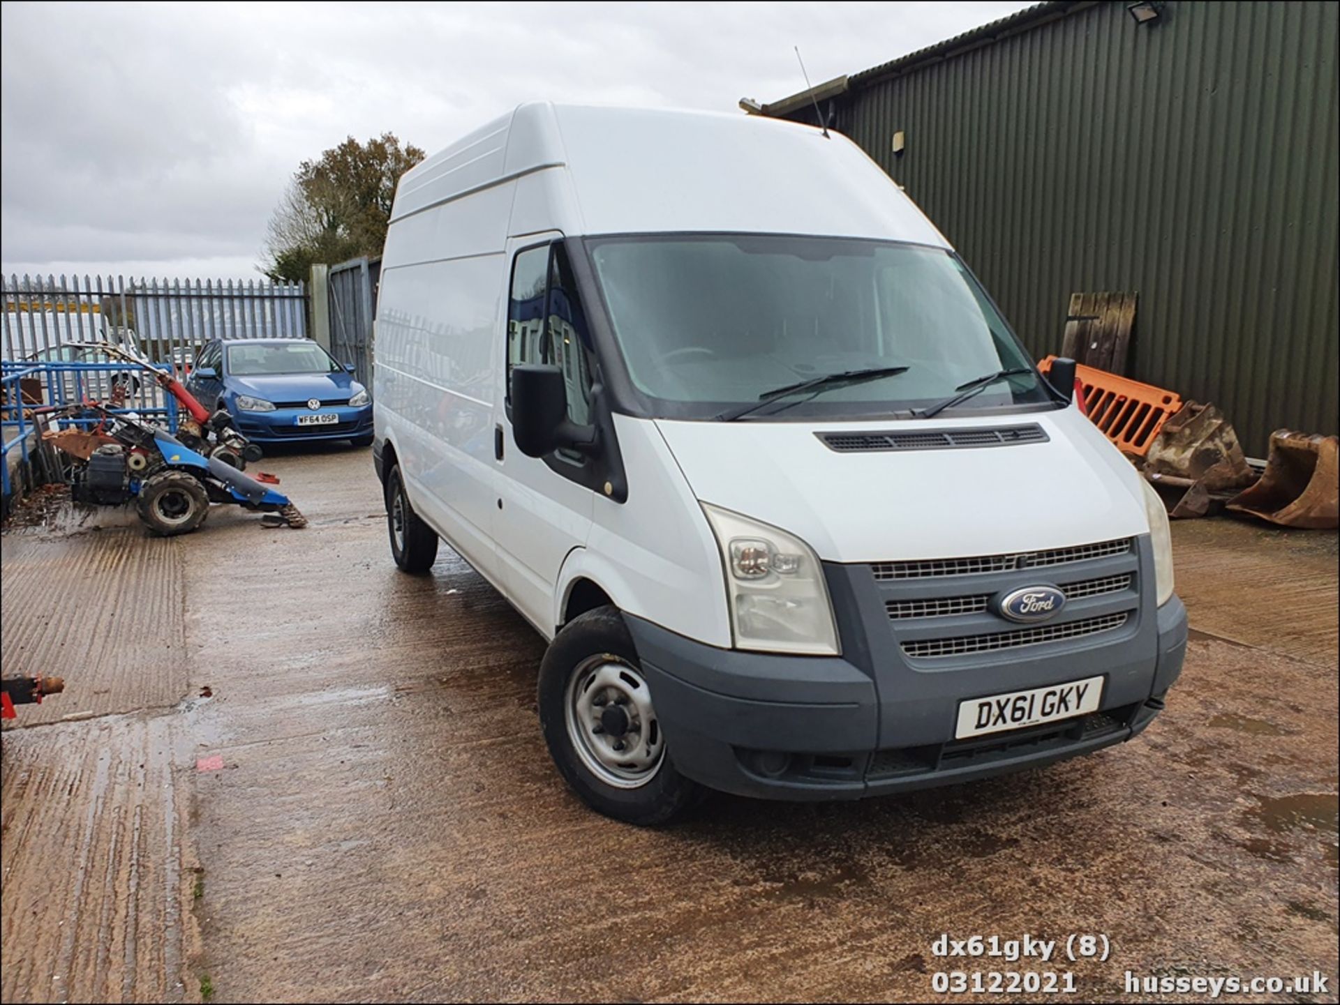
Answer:
[[(602, 653), (578, 664), (568, 677), (563, 709), (578, 757), (604, 784), (641, 788), (661, 771), (665, 736), (651, 691), (619, 657)], [(626, 728), (619, 731), (620, 725)], [(620, 743), (623, 749), (616, 749)]]

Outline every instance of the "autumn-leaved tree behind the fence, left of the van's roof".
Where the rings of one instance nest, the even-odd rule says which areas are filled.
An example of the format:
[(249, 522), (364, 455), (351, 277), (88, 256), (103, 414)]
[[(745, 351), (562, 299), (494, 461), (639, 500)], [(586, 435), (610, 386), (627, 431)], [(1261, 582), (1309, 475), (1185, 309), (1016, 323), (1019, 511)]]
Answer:
[(264, 272), (306, 280), (312, 265), (378, 256), (386, 242), (395, 183), (423, 159), (391, 132), (359, 143), (348, 136), (316, 161), (303, 161), (271, 217)]

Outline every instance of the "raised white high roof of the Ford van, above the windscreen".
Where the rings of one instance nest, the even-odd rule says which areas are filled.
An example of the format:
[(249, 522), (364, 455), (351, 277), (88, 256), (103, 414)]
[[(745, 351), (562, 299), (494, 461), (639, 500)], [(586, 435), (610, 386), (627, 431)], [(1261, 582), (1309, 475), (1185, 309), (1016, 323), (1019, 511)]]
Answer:
[(517, 106), (414, 166), (397, 187), (391, 223), (545, 173), (548, 226), (567, 234), (831, 234), (949, 246), (832, 130), (825, 138), (756, 115), (548, 102)]

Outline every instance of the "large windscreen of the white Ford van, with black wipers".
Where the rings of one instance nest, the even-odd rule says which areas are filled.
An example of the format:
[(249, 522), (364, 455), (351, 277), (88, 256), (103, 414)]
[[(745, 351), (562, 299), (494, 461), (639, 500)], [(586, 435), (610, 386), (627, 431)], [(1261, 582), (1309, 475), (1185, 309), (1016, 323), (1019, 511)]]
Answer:
[(663, 415), (714, 418), (829, 373), (902, 367), (754, 416), (907, 412), (1002, 369), (1026, 372), (950, 414), (1051, 401), (976, 278), (943, 249), (783, 234), (619, 236), (587, 248), (628, 376)]

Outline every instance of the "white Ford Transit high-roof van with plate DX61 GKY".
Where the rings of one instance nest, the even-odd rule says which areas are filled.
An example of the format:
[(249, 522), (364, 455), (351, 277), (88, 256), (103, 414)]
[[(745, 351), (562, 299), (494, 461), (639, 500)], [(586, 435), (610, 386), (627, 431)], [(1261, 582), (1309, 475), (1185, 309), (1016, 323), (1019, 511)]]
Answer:
[(399, 182), (391, 553), (549, 640), (594, 808), (855, 799), (1127, 740), (1182, 669), (1158, 496), (844, 136), (524, 104)]

